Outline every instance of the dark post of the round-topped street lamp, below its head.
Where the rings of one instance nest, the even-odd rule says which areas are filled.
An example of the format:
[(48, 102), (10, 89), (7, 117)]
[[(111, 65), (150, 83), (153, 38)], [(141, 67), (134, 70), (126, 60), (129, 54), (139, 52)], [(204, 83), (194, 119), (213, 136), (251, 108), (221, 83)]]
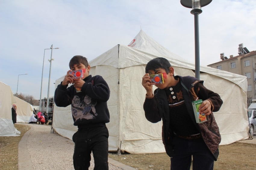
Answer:
[(199, 13), (195, 12), (195, 78), (200, 79), (200, 53), (199, 53)]

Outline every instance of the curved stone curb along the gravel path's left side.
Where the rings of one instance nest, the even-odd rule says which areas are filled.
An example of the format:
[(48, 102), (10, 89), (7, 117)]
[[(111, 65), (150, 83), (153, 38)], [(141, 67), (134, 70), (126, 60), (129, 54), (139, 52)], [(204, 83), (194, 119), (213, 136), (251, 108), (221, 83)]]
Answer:
[(19, 170), (33, 170), (32, 162), (29, 152), (27, 150), (27, 139), (30, 132), (34, 130), (34, 127), (30, 126), (28, 130), (21, 138), (18, 145), (18, 169)]

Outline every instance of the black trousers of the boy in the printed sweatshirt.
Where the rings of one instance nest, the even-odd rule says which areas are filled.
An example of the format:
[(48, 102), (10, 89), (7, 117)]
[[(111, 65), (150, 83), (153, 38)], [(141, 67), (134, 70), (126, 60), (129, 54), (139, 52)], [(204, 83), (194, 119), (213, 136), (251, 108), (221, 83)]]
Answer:
[(91, 153), (95, 170), (108, 170), (108, 128), (78, 129), (73, 135), (75, 149), (73, 164), (75, 170), (87, 170), (90, 166)]

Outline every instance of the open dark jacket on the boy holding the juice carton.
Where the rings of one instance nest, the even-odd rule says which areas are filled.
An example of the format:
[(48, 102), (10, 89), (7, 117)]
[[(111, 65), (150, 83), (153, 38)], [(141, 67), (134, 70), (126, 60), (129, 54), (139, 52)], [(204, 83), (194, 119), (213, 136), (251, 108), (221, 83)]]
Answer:
[[(220, 96), (217, 93), (212, 92), (211, 90), (203, 87), (203, 81), (198, 80), (195, 77), (186, 76), (176, 76), (180, 78), (182, 84), (183, 98), (185, 100), (185, 105), (188, 110), (188, 113), (192, 119), (192, 122), (195, 124), (198, 131), (201, 133), (201, 136), (208, 146), (211, 153), (214, 155), (215, 160), (217, 160), (219, 155), (219, 144), (220, 144), (220, 132), (219, 127), (214, 119), (213, 113), (207, 116), (207, 122), (196, 123), (195, 115), (192, 107), (192, 101), (195, 101), (198, 96), (199, 99), (209, 100), (212, 105), (212, 111), (216, 112), (220, 109), (223, 101), (220, 99)], [(200, 83), (200, 84), (198, 84)], [(201, 85), (201, 90), (198, 88)], [(172, 139), (173, 132), (169, 133), (170, 128), (170, 117), (169, 117), (169, 106), (167, 97), (164, 90), (156, 89), (154, 91), (154, 97), (152, 99), (146, 98), (144, 102), (144, 111), (145, 117), (148, 121), (152, 123), (157, 123), (161, 119), (163, 120), (163, 129), (162, 129), (162, 138), (165, 146), (166, 153), (172, 157), (173, 148), (172, 148)]]

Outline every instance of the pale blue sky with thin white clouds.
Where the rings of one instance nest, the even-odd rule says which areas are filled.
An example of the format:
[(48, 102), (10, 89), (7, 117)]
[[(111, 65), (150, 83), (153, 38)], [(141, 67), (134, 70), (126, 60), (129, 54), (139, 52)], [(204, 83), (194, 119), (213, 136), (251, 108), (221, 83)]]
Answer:
[[(256, 1), (213, 0), (199, 15), (200, 65), (256, 50)], [(13, 93), (54, 96), (55, 80), (75, 55), (88, 61), (142, 29), (172, 53), (195, 62), (194, 15), (180, 0), (0, 0), (0, 81)], [(45, 53), (44, 53), (45, 52)], [(45, 55), (44, 55), (45, 54)], [(44, 58), (45, 56), (45, 58)], [(44, 62), (43, 62), (44, 59)], [(19, 74), (27, 74), (20, 75)], [(17, 88), (18, 87), (18, 88)]]

